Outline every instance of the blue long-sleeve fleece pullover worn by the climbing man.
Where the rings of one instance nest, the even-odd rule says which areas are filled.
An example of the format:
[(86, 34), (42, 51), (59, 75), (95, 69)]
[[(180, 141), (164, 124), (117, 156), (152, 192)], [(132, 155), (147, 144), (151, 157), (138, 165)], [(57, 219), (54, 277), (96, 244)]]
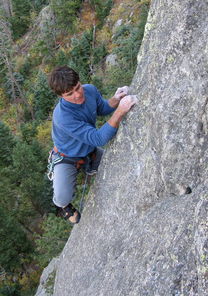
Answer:
[(104, 146), (117, 131), (107, 122), (96, 129), (97, 115), (108, 115), (115, 108), (102, 99), (93, 85), (84, 84), (83, 93), (83, 104), (73, 104), (61, 98), (53, 111), (52, 140), (57, 150), (68, 157), (83, 157), (95, 147)]

